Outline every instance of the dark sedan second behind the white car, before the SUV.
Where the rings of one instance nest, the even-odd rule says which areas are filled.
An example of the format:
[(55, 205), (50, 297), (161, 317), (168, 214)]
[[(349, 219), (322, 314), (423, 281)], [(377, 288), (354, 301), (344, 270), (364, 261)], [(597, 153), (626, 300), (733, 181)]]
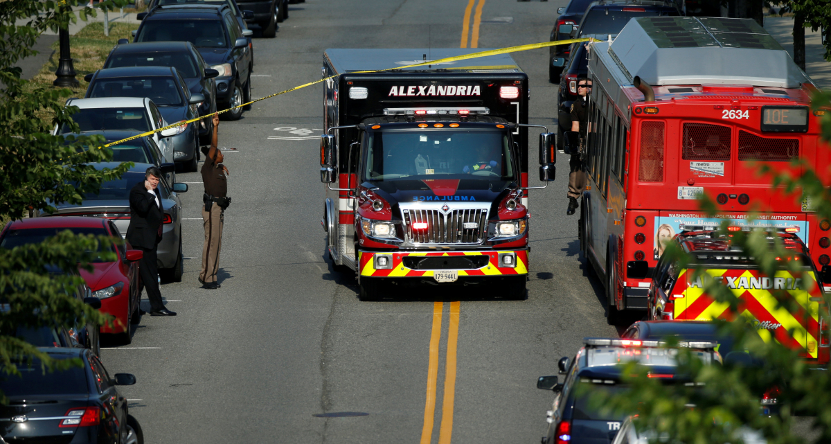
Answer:
[[(205, 100), (197, 106), (199, 116), (216, 112), (216, 81), (219, 71), (205, 63), (191, 42), (145, 42), (120, 44), (110, 52), (105, 68), (117, 67), (175, 67), (184, 78), (191, 94), (201, 94)], [(199, 145), (209, 145), (213, 124), (208, 118), (197, 123)], [(199, 158), (199, 151), (196, 153)]]

